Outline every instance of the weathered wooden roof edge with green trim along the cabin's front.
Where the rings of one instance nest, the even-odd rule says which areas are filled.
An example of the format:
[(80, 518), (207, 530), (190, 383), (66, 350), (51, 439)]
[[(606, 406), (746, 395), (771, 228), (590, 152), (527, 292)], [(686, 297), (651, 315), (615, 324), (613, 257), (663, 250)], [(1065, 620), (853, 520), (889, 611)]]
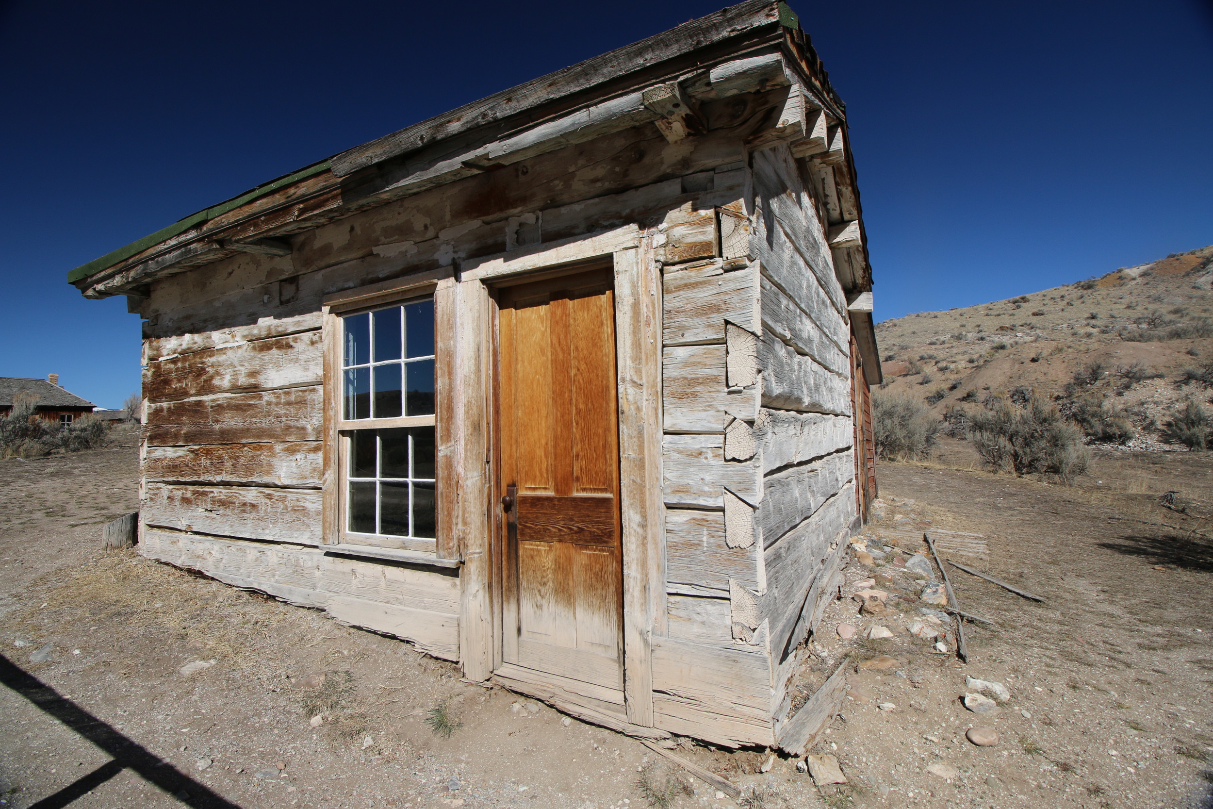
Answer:
[[(274, 252), (281, 250), (281, 243), (269, 243), (317, 227), (326, 217), (346, 216), (359, 207), (399, 198), (405, 193), (400, 187), (406, 184), (400, 182), (402, 176), (433, 173), (434, 165), (451, 153), (542, 129), (553, 116), (568, 116), (604, 98), (608, 104), (611, 99), (620, 101), (626, 93), (662, 78), (704, 70), (722, 58), (773, 47), (801, 49), (808, 57), (801, 61), (808, 80), (842, 118), (842, 101), (830, 87), (820, 59), (799, 29), (796, 13), (780, 0), (746, 0), (258, 186), (76, 267), (68, 273), (68, 283), (79, 286), (87, 297), (107, 297), (137, 290), (161, 270), (180, 272), (233, 255), (233, 251), (285, 255)], [(649, 120), (653, 118), (656, 115), (648, 114)], [(569, 142), (573, 139), (564, 144)], [(426, 184), (456, 180), (460, 171), (475, 173), (495, 166), (491, 159), (480, 165), (479, 155), (473, 156), (475, 159), (465, 161), (456, 172), (412, 183), (412, 193)], [(254, 204), (256, 211), (250, 209)], [(273, 232), (264, 233), (262, 228), (254, 234), (256, 228), (250, 227), (254, 215), (261, 221), (269, 217), (277, 222), (270, 228)], [(258, 239), (264, 235), (272, 238)]]

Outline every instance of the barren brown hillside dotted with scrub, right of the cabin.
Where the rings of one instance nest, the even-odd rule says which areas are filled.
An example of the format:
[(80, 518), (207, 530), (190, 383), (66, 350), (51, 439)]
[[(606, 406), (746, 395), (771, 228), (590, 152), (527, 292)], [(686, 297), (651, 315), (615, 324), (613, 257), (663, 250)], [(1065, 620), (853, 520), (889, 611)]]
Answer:
[(1065, 408), (1103, 400), (1160, 448), (1160, 427), (1213, 383), (1213, 245), (1100, 278), (877, 324), (885, 389), (941, 415), (986, 392), (1032, 388)]

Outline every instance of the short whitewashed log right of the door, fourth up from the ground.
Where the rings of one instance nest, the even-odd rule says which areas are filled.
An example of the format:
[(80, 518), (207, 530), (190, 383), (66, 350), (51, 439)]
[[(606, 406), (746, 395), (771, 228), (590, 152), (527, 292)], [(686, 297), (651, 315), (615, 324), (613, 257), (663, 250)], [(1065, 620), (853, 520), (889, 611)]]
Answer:
[(751, 461), (725, 461), (724, 435), (666, 435), (662, 440), (667, 506), (723, 508), (724, 488), (757, 506), (762, 471)]

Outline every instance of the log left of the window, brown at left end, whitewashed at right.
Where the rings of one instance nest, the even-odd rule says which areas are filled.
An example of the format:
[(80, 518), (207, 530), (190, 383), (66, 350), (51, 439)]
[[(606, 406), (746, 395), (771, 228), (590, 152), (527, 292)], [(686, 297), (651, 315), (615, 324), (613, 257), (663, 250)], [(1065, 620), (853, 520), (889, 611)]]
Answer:
[(150, 363), (144, 371), (143, 395), (150, 401), (166, 401), (319, 384), (321, 344), (319, 331), (306, 331)]

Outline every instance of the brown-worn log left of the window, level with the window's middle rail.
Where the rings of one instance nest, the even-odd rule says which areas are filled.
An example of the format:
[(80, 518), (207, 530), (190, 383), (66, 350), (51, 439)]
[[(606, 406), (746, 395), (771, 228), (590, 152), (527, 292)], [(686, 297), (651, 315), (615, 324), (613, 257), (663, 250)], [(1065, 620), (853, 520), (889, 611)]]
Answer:
[(152, 403), (143, 434), (149, 446), (315, 441), (324, 423), (324, 388), (221, 393)]

